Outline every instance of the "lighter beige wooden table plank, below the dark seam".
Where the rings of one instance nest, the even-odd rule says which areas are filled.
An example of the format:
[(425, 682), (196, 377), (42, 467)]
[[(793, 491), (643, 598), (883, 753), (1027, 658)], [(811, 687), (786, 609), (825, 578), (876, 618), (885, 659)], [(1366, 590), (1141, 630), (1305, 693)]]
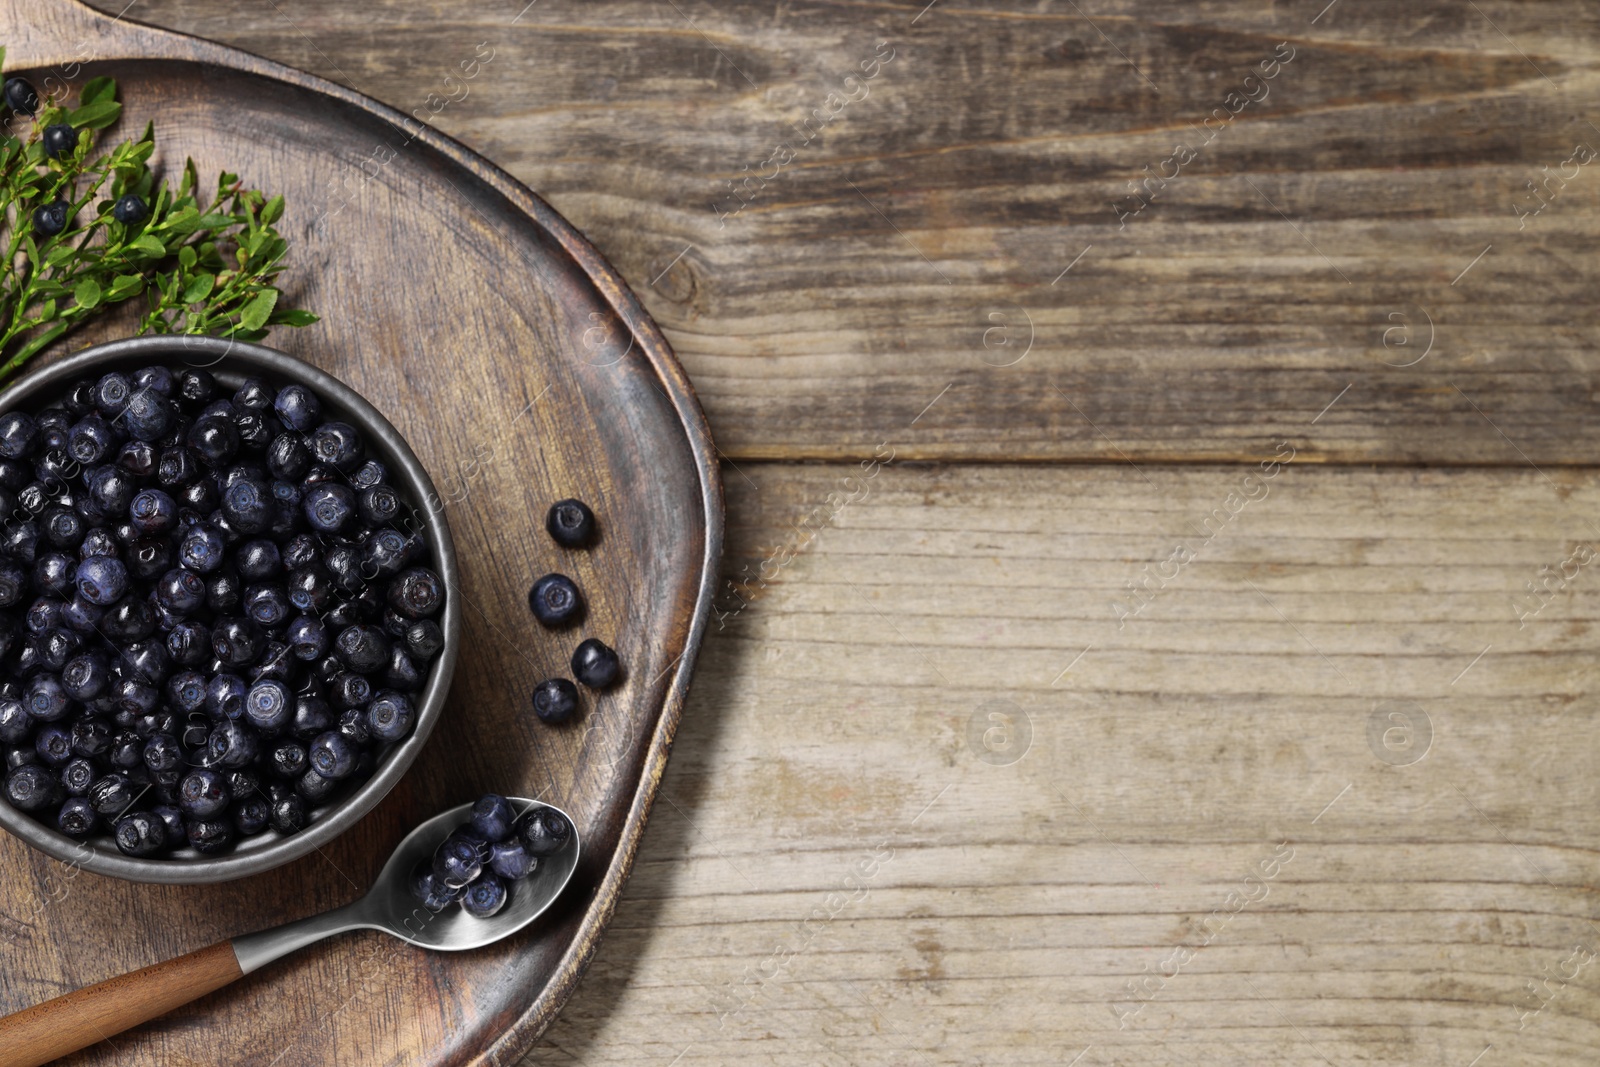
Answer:
[[(843, 475), (730, 475), (730, 574)], [(1539, 1011), (1525, 985), (1600, 949), (1595, 563), (1512, 603), (1595, 542), (1600, 477), (1296, 459), (1202, 547), (1240, 478), (866, 482), (707, 641), (616, 921), (525, 1062), (1590, 1062), (1597, 971)]]

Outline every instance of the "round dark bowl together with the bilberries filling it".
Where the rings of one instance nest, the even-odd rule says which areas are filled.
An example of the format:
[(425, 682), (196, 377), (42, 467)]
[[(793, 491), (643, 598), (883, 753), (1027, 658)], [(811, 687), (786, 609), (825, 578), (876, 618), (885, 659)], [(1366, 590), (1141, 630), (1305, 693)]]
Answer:
[(458, 627), (394, 427), (291, 357), (192, 341), (0, 397), (0, 822), (160, 881), (360, 817), (432, 728)]

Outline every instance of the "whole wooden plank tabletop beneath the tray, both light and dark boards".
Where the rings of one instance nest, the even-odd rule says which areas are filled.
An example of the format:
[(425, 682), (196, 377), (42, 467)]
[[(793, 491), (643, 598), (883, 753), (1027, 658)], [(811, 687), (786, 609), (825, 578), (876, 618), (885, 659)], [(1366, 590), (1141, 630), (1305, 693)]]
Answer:
[(1595, 1061), (1592, 3), (525, 2), (130, 18), (512, 170), (725, 453), (528, 1064)]

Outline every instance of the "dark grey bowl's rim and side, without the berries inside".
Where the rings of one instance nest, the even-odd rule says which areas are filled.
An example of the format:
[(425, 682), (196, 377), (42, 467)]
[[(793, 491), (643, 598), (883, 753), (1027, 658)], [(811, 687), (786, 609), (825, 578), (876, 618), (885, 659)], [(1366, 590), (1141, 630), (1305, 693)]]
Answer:
[(184, 848), (163, 859), (134, 859), (117, 851), (117, 845), (109, 835), (75, 841), (0, 798), (0, 825), (34, 848), (83, 870), (133, 881), (229, 881), (270, 870), (326, 845), (371, 811), (411, 766), (438, 721), (445, 694), (450, 689), (450, 677), (456, 669), (456, 653), (461, 645), (461, 606), (456, 597), (459, 574), (443, 509), (427, 507), (427, 501), (438, 499), (434, 493), (434, 483), (395, 427), (349, 386), (283, 352), (256, 344), (194, 336), (114, 341), (85, 349), (24, 376), (0, 392), (0, 413), (14, 408), (37, 411), (58, 400), (67, 384), (78, 378), (99, 376), (118, 368), (138, 370), (152, 363), (163, 363), (173, 370), (205, 368), (219, 382), (232, 387), (237, 387), (245, 378), (254, 376), (272, 384), (301, 382), (312, 389), (323, 402), (323, 414), (336, 414), (360, 430), (368, 454), (387, 464), (395, 490), (400, 491), (406, 504), (416, 509), (416, 515), (427, 531), (432, 547), (430, 566), (445, 581), (445, 611), (443, 617), (438, 619), (445, 632), (445, 648), (434, 659), (427, 685), (422, 688), (416, 728), (403, 742), (390, 745), (387, 752), (381, 753), (378, 769), (360, 789), (317, 811), (310, 825), (299, 833), (282, 837), (269, 829), (258, 837), (240, 841), (234, 851), (222, 856), (202, 856), (192, 848)]

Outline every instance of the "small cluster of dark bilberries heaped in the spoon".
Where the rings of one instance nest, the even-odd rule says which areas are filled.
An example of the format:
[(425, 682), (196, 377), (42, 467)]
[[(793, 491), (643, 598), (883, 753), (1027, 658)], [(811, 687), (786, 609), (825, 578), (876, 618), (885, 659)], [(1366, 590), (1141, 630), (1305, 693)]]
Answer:
[(411, 872), (411, 896), (430, 912), (453, 904), (478, 918), (498, 913), (517, 881), (554, 856), (573, 833), (554, 808), (533, 808), (522, 816), (499, 793), (485, 793), (472, 816), (450, 832), (434, 856)]

